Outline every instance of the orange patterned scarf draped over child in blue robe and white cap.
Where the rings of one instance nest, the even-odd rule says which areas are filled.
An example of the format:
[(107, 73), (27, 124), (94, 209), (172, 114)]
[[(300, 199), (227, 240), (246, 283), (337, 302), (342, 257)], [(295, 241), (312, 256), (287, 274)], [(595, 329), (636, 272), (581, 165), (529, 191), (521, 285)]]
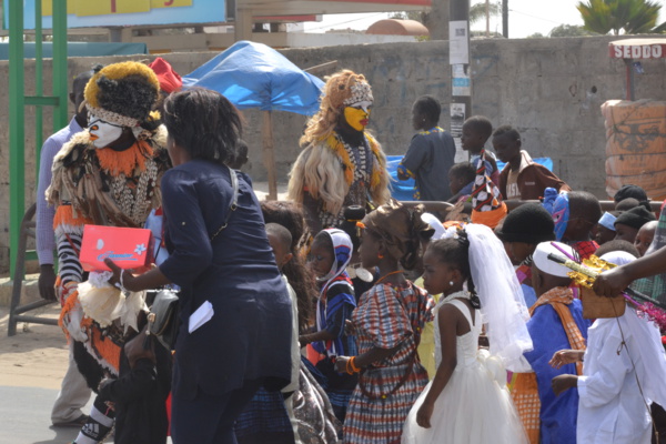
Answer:
[[(574, 294), (572, 289), (557, 286), (542, 294), (532, 307), (529, 307), (529, 315), (534, 314), (534, 311), (542, 305), (551, 304), (557, 312), (559, 321), (564, 326), (567, 339), (569, 341), (571, 349), (573, 350), (585, 350), (585, 339), (581, 334), (578, 325), (574, 321), (568, 305), (574, 301)], [(583, 363), (576, 363), (576, 372), (578, 375), (583, 374)], [(511, 396), (518, 411), (518, 416), (525, 426), (525, 432), (529, 438), (531, 444), (539, 443), (539, 428), (541, 428), (541, 400), (538, 396), (538, 386), (535, 373), (518, 373), (514, 383), (514, 389)]]

